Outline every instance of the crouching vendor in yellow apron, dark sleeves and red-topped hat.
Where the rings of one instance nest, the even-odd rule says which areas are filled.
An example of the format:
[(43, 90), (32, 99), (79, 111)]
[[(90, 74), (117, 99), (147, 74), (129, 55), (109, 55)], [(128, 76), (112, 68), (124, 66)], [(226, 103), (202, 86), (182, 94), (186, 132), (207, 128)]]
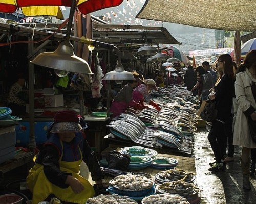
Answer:
[(27, 177), (33, 204), (52, 197), (63, 203), (85, 203), (94, 196), (93, 186), (79, 174), (82, 160), (95, 183), (102, 184), (103, 172), (84, 139), (82, 126), (86, 123), (74, 111), (59, 111), (54, 116), (48, 140)]

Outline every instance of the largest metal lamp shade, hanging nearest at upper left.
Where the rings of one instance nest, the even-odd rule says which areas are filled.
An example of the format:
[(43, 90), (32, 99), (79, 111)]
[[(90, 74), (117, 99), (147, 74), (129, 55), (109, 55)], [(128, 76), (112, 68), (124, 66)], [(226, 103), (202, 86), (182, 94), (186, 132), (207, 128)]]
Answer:
[(87, 61), (74, 54), (69, 41), (63, 41), (54, 52), (40, 53), (31, 63), (75, 73), (93, 74)]

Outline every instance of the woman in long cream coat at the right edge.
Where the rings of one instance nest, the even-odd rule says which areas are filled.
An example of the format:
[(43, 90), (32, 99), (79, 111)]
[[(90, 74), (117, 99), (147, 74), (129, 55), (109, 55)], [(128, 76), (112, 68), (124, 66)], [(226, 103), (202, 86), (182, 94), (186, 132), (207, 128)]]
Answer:
[(244, 63), (238, 70), (242, 71), (236, 74), (235, 82), (238, 109), (233, 144), (242, 146), (240, 164), (243, 172), (243, 188), (250, 190), (250, 155), (251, 149), (256, 148), (256, 143), (251, 139), (248, 117), (256, 121), (256, 50), (246, 54)]

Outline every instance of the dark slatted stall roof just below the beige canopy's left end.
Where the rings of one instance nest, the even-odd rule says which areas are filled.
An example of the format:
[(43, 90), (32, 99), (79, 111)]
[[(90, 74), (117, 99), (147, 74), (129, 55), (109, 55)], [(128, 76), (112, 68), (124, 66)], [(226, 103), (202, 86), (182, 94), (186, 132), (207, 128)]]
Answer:
[(143, 25), (93, 24), (93, 39), (130, 51), (137, 51), (146, 40), (152, 45), (181, 44), (165, 27)]

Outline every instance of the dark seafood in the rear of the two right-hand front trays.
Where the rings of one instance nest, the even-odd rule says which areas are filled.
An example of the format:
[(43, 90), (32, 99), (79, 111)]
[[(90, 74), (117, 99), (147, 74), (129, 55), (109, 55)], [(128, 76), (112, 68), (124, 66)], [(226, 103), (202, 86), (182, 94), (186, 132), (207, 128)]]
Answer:
[(155, 182), (162, 184), (170, 181), (183, 180), (185, 182), (193, 182), (195, 180), (195, 174), (187, 172), (181, 169), (169, 169), (165, 171), (160, 171), (155, 175)]

